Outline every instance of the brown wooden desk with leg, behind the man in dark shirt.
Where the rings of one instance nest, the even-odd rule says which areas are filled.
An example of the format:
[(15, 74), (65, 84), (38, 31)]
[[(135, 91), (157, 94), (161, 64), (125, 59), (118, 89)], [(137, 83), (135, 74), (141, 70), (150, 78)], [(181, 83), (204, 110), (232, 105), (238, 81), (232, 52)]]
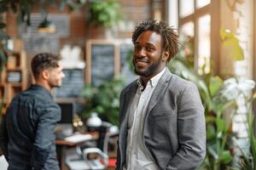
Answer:
[[(84, 133), (86, 134), (86, 133)], [(87, 133), (88, 134), (88, 133)], [(75, 147), (79, 144), (83, 144), (86, 141), (90, 140), (96, 140), (99, 137), (98, 133), (89, 133), (92, 136), (92, 139), (84, 139), (79, 142), (69, 142), (65, 139), (56, 139), (55, 140), (55, 145), (56, 145), (56, 155), (57, 155), (57, 160), (59, 161), (61, 170), (66, 170), (67, 167), (65, 165), (65, 150), (70, 147)]]

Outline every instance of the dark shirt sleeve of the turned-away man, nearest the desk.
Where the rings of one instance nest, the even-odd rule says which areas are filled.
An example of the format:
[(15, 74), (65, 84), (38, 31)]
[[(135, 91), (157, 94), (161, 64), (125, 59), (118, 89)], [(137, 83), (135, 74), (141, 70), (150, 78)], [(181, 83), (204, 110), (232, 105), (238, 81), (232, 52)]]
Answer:
[(32, 151), (32, 167), (43, 169), (49, 156), (51, 147), (55, 144), (55, 124), (58, 119), (59, 108), (50, 105), (48, 108), (38, 109), (38, 124), (35, 136), (35, 142)]

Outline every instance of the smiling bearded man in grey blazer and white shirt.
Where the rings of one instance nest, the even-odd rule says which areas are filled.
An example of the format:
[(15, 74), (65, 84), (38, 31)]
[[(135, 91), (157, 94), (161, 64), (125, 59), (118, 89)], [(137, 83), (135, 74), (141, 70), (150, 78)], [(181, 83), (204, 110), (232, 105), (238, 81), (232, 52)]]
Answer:
[(120, 95), (117, 169), (195, 169), (206, 154), (204, 108), (195, 85), (166, 68), (177, 34), (165, 22), (146, 21), (132, 42), (140, 77)]

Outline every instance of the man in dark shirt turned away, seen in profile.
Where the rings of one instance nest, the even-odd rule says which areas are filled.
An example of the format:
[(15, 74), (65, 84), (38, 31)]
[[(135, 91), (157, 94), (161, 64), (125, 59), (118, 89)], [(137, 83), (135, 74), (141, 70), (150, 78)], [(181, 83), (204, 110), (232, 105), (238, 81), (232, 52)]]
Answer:
[(58, 170), (55, 159), (55, 124), (61, 109), (50, 90), (61, 87), (60, 58), (38, 54), (32, 59), (35, 84), (12, 99), (0, 128), (0, 147), (12, 169)]

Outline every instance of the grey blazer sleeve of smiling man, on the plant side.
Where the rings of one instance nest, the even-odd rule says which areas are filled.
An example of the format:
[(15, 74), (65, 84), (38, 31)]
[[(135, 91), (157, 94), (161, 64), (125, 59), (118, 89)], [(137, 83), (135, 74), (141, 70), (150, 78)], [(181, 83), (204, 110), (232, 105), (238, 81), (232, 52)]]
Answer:
[(195, 84), (183, 89), (177, 104), (179, 149), (166, 169), (195, 169), (206, 155), (206, 122), (200, 94)]

